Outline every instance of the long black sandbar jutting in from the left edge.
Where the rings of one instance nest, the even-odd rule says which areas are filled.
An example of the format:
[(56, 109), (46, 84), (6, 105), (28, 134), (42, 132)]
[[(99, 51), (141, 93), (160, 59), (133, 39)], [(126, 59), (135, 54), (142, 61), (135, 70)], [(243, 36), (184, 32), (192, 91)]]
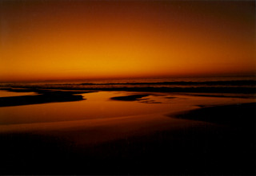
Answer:
[(74, 94), (86, 93), (86, 92), (74, 92), (74, 91), (73, 92), (46, 91), (46, 90), (39, 90), (39, 89), (8, 89), (8, 90), (11, 92), (38, 92), (39, 95), (0, 97), (0, 107), (85, 100), (81, 95), (74, 95)]

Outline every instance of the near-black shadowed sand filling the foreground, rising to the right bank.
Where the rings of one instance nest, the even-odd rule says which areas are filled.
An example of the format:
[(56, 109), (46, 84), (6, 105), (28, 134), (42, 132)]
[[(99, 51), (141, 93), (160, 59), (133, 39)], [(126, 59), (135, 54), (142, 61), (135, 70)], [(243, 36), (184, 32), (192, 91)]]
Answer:
[[(169, 121), (151, 115), (151, 121), (150, 117), (144, 121), (106, 119), (98, 120), (98, 126), (93, 121), (78, 122), (80, 127), (67, 131), (46, 127), (48, 132), (42, 134), (25, 126), (22, 132), (3, 127), (0, 173), (254, 175), (255, 114), (251, 108), (255, 110), (255, 104), (201, 108)], [(122, 126), (113, 120), (122, 120)], [(79, 143), (81, 139), (90, 139), (91, 144)]]

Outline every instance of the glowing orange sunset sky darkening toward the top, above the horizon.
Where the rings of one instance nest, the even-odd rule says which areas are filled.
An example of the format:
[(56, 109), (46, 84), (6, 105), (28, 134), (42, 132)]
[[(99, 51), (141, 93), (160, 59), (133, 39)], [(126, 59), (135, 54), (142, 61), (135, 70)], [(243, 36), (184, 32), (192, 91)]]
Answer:
[(0, 81), (256, 72), (254, 1), (2, 1)]

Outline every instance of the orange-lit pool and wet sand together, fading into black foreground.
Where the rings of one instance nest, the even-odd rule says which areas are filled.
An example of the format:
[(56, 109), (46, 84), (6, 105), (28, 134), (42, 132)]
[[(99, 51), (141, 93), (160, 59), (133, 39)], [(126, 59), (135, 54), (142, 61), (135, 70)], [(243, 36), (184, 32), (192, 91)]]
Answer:
[(0, 133), (50, 135), (82, 147), (159, 130), (175, 131), (206, 125), (215, 127), (213, 123), (175, 119), (167, 114), (192, 110), (200, 104), (254, 101), (170, 93), (154, 93), (138, 101), (110, 100), (114, 96), (134, 94), (136, 92), (92, 92), (82, 94), (86, 100), (77, 102), (0, 108)]

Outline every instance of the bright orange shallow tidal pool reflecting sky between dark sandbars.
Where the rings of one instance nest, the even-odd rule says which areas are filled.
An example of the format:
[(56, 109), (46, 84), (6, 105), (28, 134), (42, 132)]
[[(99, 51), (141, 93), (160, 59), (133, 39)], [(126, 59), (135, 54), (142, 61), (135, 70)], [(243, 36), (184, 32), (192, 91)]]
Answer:
[(131, 94), (130, 92), (90, 92), (81, 95), (86, 100), (0, 108), (0, 124), (43, 123), (106, 119), (156, 113), (165, 114), (198, 108), (197, 105), (200, 104), (235, 104), (253, 101), (242, 98), (183, 96), (170, 93), (154, 93), (146, 96), (146, 100), (139, 101), (110, 100), (111, 97), (134, 95), (134, 93)]

